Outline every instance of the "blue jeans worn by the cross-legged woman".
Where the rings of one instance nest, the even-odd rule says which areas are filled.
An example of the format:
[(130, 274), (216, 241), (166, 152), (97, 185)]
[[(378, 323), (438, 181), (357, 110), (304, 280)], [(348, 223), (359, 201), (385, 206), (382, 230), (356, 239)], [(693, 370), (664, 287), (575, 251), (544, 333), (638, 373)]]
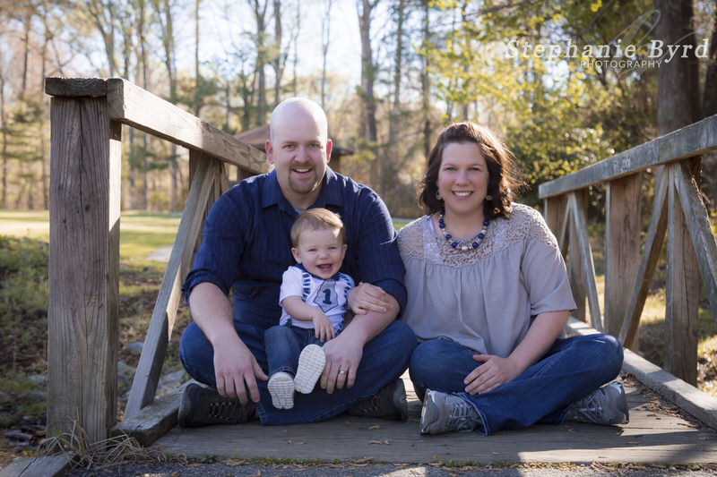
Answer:
[(426, 389), (433, 389), (471, 403), (486, 435), (535, 422), (562, 422), (567, 406), (615, 379), (623, 360), (622, 345), (610, 335), (557, 339), (539, 362), (513, 381), (471, 396), (463, 379), (480, 365), (474, 354), (445, 339), (423, 342), (410, 359), (410, 379), (421, 400)]

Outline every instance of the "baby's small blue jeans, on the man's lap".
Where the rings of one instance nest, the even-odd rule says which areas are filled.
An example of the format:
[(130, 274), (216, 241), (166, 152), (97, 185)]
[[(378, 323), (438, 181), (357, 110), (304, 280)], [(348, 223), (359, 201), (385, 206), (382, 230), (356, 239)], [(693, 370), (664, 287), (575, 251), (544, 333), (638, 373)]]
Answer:
[(297, 375), (298, 355), (307, 345), (323, 346), (315, 336), (314, 328), (298, 328), (290, 325), (277, 325), (263, 334), (263, 345), (269, 363), (268, 376), (279, 371)]

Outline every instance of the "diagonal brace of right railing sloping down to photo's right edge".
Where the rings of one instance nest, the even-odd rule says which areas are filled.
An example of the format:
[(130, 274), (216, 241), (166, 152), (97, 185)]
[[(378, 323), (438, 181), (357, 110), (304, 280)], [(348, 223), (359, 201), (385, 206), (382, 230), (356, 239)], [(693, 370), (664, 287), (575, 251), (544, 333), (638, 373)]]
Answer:
[(712, 316), (717, 319), (717, 242), (715, 242), (712, 226), (704, 207), (702, 194), (697, 188), (694, 177), (683, 164), (676, 171), (676, 184), (682, 212), (687, 219), (687, 228), (697, 253), (697, 263), (704, 288), (710, 301)]

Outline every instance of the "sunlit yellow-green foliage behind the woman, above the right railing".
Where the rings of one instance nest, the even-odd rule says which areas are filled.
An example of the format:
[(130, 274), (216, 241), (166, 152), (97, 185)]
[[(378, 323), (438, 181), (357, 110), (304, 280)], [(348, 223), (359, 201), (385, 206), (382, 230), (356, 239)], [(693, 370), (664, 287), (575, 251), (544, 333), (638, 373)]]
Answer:
[[(422, 50), (446, 104), (445, 122), (474, 120), (502, 132), (531, 186), (523, 201), (536, 204), (540, 183), (650, 137), (654, 75), (610, 70), (583, 55), (585, 46), (609, 45), (617, 57), (618, 40), (644, 38), (649, 27), (638, 19), (649, 6), (646, 0), (486, 0), (474, 11), (462, 7), (454, 18), (464, 21)], [(562, 53), (537, 53), (541, 47)]]

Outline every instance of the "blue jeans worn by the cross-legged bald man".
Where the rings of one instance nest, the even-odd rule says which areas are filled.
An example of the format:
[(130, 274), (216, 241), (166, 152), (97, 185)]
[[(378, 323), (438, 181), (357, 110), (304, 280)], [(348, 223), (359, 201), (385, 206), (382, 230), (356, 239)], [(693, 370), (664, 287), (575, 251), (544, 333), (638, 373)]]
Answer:
[[(265, 328), (237, 320), (234, 321), (234, 328), (266, 372)], [(256, 405), (256, 412), (259, 419), (263, 424), (282, 425), (324, 421), (343, 413), (354, 403), (374, 396), (379, 389), (401, 376), (409, 365), (410, 353), (415, 347), (416, 336), (413, 331), (405, 323), (394, 320), (364, 345), (353, 387), (335, 389), (333, 394), (328, 394), (316, 386), (311, 394), (298, 393), (294, 397), (293, 409), (276, 409), (266, 388), (267, 381), (258, 380), (261, 400)], [(216, 386), (212, 344), (194, 322), (186, 327), (182, 335), (179, 357), (189, 376), (204, 384)]]

